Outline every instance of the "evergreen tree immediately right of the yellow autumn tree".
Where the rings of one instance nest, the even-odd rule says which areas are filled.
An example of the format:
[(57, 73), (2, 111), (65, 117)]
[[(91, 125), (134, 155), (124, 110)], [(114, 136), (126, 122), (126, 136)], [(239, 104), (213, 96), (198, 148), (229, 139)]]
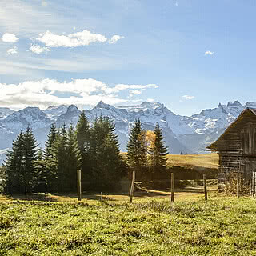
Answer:
[(168, 148), (164, 145), (162, 130), (157, 123), (154, 127), (154, 143), (151, 149), (149, 150), (150, 154), (150, 166), (154, 173), (157, 173), (158, 170), (163, 170), (166, 168), (167, 158), (166, 154), (168, 154)]

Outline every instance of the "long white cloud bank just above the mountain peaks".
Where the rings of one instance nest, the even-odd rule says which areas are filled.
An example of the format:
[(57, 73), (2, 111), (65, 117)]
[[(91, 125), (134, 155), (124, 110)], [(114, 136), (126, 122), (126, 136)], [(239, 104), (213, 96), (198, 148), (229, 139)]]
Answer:
[[(117, 85), (118, 86), (118, 85)], [(40, 81), (26, 81), (19, 84), (1, 84), (0, 105), (20, 109), (25, 106), (39, 106), (45, 108), (50, 105), (76, 104), (77, 106), (94, 106), (100, 100), (108, 104), (120, 104), (127, 99), (120, 97), (115, 90), (117, 86), (110, 87), (105, 82), (94, 79), (74, 79), (71, 82), (58, 82), (52, 79)], [(148, 85), (122, 85), (118, 91)], [(156, 87), (153, 87), (156, 88)], [(72, 94), (72, 96), (69, 96)], [(65, 98), (62, 96), (65, 95)]]

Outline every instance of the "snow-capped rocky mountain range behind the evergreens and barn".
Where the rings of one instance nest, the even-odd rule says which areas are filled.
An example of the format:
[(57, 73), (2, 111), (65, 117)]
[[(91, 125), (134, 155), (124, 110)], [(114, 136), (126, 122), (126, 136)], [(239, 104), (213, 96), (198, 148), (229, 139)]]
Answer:
[[(214, 109), (202, 110), (190, 117), (174, 114), (159, 102), (142, 102), (136, 106), (110, 106), (99, 102), (92, 110), (85, 110), (86, 116), (92, 122), (94, 118), (103, 115), (114, 119), (122, 151), (126, 150), (129, 131), (136, 118), (140, 118), (146, 130), (153, 130), (156, 122), (162, 127), (166, 145), (170, 154), (203, 153), (210, 142), (214, 142), (220, 134), (238, 117), (246, 107), (256, 108), (256, 102), (246, 102), (245, 106), (238, 101), (218, 104)], [(5, 154), (20, 130), (32, 127), (38, 142), (44, 147), (52, 122), (57, 126), (71, 122), (76, 125), (81, 110), (74, 105), (50, 106), (46, 110), (38, 107), (26, 107), (14, 111), (0, 107), (0, 154)], [(2, 159), (3, 157), (0, 157)]]

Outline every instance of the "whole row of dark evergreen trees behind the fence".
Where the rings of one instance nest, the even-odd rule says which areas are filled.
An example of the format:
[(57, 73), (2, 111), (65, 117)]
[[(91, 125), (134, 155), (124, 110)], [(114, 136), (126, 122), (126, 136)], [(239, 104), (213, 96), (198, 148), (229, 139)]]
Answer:
[[(157, 173), (166, 168), (167, 148), (157, 124), (154, 131), (134, 122), (121, 154), (113, 120), (98, 117), (90, 125), (84, 112), (77, 126), (50, 126), (44, 150), (38, 148), (33, 131), (21, 131), (8, 151), (3, 169), (6, 192), (70, 192), (77, 189), (77, 170), (82, 170), (82, 190), (118, 190), (130, 170)], [(125, 155), (125, 157), (124, 157)]]

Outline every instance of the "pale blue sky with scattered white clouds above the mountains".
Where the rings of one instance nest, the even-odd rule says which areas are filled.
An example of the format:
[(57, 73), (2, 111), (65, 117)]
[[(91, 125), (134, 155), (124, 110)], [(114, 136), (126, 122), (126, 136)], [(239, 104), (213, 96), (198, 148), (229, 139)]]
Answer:
[(256, 102), (255, 14), (255, 0), (1, 0), (0, 106)]

